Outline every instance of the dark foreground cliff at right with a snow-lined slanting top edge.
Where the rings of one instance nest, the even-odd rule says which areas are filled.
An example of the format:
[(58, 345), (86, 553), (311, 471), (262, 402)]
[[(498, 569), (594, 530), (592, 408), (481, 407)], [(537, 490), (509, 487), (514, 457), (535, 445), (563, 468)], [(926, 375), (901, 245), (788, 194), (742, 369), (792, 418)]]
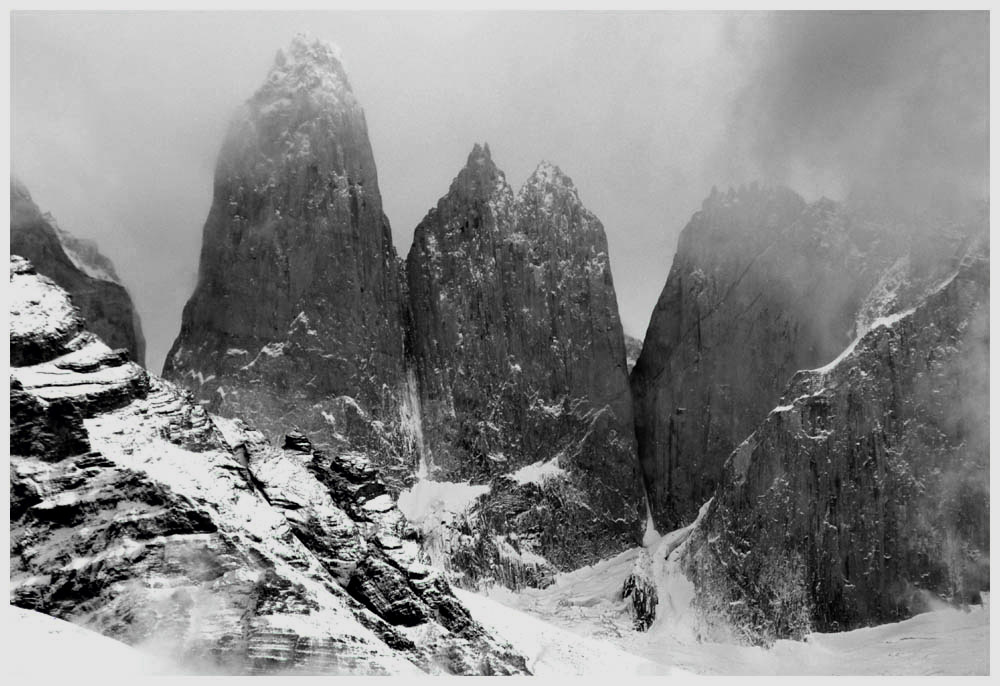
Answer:
[(732, 453), (689, 547), (711, 620), (753, 642), (989, 589), (989, 263), (803, 371)]

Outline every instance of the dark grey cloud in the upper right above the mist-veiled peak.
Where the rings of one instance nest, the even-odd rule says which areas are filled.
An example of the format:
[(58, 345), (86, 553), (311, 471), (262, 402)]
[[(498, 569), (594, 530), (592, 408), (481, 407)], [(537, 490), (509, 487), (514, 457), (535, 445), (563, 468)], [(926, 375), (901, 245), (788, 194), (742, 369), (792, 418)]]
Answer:
[(730, 110), (735, 176), (904, 214), (982, 204), (987, 13), (795, 12), (753, 28), (734, 29), (756, 63)]

